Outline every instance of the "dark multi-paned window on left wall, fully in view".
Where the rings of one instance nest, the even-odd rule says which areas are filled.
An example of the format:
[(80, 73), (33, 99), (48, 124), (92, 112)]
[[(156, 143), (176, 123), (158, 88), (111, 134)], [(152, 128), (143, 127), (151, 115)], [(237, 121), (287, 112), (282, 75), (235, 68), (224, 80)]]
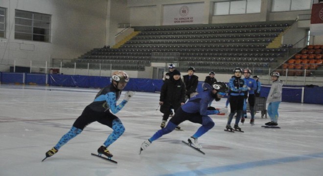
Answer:
[(50, 19), (47, 14), (15, 11), (15, 39), (50, 42)]

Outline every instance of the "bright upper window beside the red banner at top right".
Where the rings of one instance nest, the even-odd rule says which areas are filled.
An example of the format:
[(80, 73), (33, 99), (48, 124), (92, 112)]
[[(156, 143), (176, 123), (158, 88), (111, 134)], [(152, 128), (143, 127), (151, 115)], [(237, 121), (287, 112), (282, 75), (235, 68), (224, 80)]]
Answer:
[(312, 0), (273, 0), (272, 12), (311, 10)]

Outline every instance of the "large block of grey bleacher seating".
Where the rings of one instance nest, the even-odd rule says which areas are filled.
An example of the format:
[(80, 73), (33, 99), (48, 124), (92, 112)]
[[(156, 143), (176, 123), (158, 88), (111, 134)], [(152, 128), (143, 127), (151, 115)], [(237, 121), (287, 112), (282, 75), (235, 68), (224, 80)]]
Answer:
[[(290, 24), (254, 22), (138, 27), (135, 30), (141, 32), (119, 48), (93, 49), (76, 63), (84, 65), (91, 62), (98, 67), (112, 64), (113, 69), (144, 70), (144, 66), (150, 66), (151, 62), (177, 62), (180, 69), (194, 66), (199, 72), (209, 72), (216, 67), (211, 70), (225, 73), (236, 66), (267, 72), (271, 66), (279, 65), (279, 58), (288, 48), (266, 46)], [(174, 53), (176, 56), (155, 57), (153, 53)]]

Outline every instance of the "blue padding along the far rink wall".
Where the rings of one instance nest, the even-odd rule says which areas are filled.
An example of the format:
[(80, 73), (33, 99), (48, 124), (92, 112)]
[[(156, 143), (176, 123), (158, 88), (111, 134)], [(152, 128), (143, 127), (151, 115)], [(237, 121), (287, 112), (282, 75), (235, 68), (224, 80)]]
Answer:
[[(25, 83), (36, 83), (37, 85), (45, 85), (46, 75), (29, 74), (29, 73), (12, 73), (0, 72), (1, 83), (15, 84), (23, 82), (23, 74), (25, 74)], [(80, 88), (103, 88), (110, 84), (110, 77), (104, 76), (81, 76), (81, 75), (63, 75), (49, 74), (49, 86), (64, 86), (64, 87), (80, 87)], [(162, 80), (145, 79), (145, 78), (130, 78), (124, 90), (141, 91), (141, 92), (160, 92)], [(202, 92), (203, 82), (199, 82), (197, 91)], [(269, 85), (270, 86), (270, 85)], [(301, 103), (301, 86), (298, 87), (284, 85), (282, 93), (283, 102)], [(270, 87), (261, 87), (260, 96), (267, 97)], [(304, 103), (323, 104), (323, 87), (304, 88)]]

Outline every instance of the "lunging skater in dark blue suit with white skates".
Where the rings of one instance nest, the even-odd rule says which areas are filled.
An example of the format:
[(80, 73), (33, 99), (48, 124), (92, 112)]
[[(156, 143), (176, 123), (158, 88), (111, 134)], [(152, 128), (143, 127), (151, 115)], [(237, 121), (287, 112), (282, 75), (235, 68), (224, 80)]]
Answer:
[(214, 107), (208, 107), (209, 102), (220, 101), (220, 99), (228, 92), (228, 86), (223, 82), (203, 85), (204, 91), (190, 98), (182, 105), (169, 120), (165, 128), (157, 131), (152, 137), (141, 144), (141, 151), (145, 150), (153, 141), (162, 135), (172, 132), (180, 123), (188, 120), (193, 123), (199, 123), (202, 126), (191, 137), (187, 139), (188, 143), (197, 149), (202, 146), (198, 142), (198, 138), (214, 127), (214, 122), (209, 117), (211, 114), (226, 113), (227, 108), (216, 110)]

